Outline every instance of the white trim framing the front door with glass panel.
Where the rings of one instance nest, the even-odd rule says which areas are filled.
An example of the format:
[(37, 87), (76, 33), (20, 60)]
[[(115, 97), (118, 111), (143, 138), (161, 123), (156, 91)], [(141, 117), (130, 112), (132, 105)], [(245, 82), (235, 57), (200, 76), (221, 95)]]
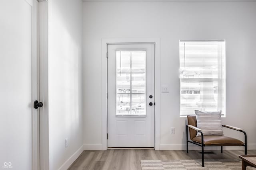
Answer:
[(161, 63), (160, 63), (160, 38), (108, 38), (102, 39), (102, 150), (108, 148), (108, 101), (107, 101), (107, 51), (109, 44), (154, 44), (154, 144), (155, 150), (160, 149), (160, 109), (161, 109)]

